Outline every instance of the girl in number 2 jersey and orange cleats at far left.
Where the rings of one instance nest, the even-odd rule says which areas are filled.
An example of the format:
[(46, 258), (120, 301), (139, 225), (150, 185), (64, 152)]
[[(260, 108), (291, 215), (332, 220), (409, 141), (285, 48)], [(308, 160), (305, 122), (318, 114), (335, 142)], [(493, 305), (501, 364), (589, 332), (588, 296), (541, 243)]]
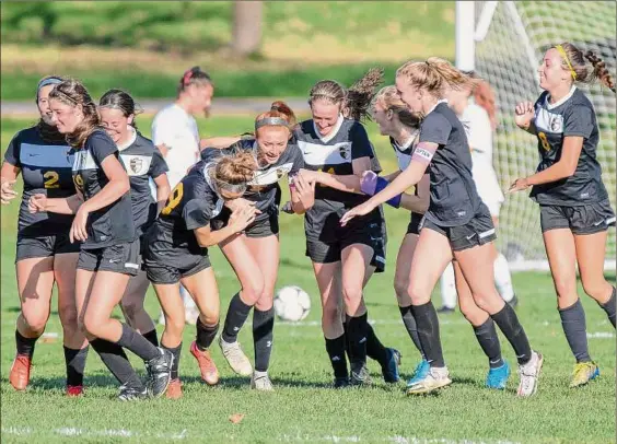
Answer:
[(36, 340), (49, 318), (51, 290), (58, 287), (58, 313), (62, 324), (67, 395), (82, 394), (88, 341), (80, 332), (74, 301), (75, 268), (79, 243), (69, 242), (71, 215), (40, 212), (31, 214), (27, 202), (35, 194), (63, 197), (74, 194), (70, 147), (51, 118), (49, 92), (61, 78), (47, 77), (38, 82), (36, 104), (40, 120), (35, 127), (18, 132), (4, 154), (2, 164), (2, 203), (16, 197), (12, 189), (20, 173), (24, 192), (20, 208), (15, 269), (21, 313), (15, 342), (18, 353), (9, 382), (18, 389), (26, 388)]

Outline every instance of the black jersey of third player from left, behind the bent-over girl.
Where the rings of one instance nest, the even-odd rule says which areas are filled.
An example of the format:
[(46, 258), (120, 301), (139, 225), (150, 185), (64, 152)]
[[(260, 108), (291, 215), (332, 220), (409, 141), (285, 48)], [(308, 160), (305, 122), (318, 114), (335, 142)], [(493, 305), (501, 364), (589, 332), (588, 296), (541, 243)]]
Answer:
[(167, 164), (152, 141), (137, 131), (128, 147), (118, 148), (130, 179), (135, 229), (141, 235), (156, 219), (156, 202), (150, 189), (150, 178), (165, 174)]

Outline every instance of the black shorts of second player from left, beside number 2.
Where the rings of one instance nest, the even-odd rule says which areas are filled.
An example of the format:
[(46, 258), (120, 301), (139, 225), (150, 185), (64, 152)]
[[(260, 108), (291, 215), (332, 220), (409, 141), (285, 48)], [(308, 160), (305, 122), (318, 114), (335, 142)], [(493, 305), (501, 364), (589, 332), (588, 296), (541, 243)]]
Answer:
[(137, 276), (141, 268), (139, 239), (104, 248), (81, 249), (78, 268)]

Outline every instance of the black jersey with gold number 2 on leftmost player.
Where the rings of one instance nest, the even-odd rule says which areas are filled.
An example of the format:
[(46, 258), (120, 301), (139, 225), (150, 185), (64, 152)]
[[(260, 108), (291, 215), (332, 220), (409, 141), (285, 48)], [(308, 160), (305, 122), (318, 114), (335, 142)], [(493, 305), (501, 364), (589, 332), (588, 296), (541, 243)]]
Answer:
[(68, 234), (73, 217), (39, 212), (31, 214), (30, 198), (36, 194), (63, 198), (75, 194), (73, 155), (68, 143), (46, 142), (36, 127), (18, 132), (4, 153), (4, 161), (21, 168), (24, 190), (20, 206), (19, 235), (26, 237)]

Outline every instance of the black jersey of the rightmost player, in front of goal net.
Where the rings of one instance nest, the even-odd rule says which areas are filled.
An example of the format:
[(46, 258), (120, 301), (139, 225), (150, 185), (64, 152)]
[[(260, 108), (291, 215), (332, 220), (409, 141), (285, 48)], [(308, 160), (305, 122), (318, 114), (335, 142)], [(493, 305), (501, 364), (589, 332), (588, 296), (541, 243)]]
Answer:
[(582, 137), (583, 148), (574, 174), (550, 184), (534, 186), (532, 199), (543, 205), (559, 206), (584, 206), (606, 199), (608, 194), (596, 159), (599, 140), (597, 119), (585, 94), (572, 86), (566, 97), (550, 104), (548, 92), (544, 92), (535, 104), (534, 124), (540, 155), (538, 172), (561, 159), (564, 137)]

